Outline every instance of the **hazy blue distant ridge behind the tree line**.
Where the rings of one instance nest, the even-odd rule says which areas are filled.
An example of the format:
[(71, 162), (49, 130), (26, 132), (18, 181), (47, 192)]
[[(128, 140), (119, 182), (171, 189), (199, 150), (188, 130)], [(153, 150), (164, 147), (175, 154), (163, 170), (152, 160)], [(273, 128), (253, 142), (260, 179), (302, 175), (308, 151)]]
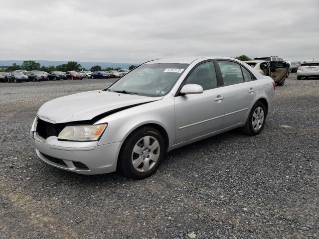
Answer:
[[(35, 62), (39, 62), (41, 66), (57, 66), (67, 63), (68, 61), (45, 61), (45, 60), (34, 60)], [(22, 65), (22, 60), (0, 60), (0, 65), (3, 66), (12, 66), (15, 63), (17, 65)], [(86, 61), (78, 61), (77, 63), (81, 64), (82, 67), (86, 69), (90, 69), (92, 66), (101, 66), (102, 69), (107, 67), (121, 67), (122, 69), (127, 69), (131, 65), (139, 65), (138, 63), (115, 63), (115, 62), (86, 62)]]

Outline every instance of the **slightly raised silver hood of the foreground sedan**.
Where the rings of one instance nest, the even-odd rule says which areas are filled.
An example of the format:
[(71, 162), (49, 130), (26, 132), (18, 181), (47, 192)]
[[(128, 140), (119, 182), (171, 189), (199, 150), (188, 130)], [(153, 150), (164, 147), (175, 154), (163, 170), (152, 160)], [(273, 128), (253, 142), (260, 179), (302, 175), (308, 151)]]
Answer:
[(109, 91), (89, 91), (51, 100), (40, 107), (37, 116), (55, 123), (90, 120), (110, 111), (157, 101), (147, 97)]

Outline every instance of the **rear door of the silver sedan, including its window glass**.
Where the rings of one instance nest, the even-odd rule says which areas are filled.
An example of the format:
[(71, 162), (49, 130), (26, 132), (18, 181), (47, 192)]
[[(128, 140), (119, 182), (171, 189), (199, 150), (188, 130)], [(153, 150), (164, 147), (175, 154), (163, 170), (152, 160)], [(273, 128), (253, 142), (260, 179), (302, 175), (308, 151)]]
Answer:
[(238, 62), (218, 60), (224, 86), (220, 87), (225, 106), (222, 128), (242, 123), (254, 104), (258, 87), (251, 72)]

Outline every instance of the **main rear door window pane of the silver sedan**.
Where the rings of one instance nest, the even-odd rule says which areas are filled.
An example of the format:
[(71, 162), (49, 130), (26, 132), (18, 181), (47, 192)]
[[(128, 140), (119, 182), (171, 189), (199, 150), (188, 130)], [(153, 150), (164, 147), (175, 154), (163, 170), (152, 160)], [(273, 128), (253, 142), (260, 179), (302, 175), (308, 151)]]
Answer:
[(232, 61), (218, 61), (223, 76), (224, 85), (233, 85), (244, 82), (241, 66)]

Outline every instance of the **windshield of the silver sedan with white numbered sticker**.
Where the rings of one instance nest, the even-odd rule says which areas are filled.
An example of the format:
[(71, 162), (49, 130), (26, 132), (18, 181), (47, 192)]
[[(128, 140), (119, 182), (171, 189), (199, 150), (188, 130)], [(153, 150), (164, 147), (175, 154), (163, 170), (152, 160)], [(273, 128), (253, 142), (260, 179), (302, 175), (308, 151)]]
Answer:
[(122, 76), (109, 90), (144, 96), (166, 95), (188, 64), (144, 64)]

